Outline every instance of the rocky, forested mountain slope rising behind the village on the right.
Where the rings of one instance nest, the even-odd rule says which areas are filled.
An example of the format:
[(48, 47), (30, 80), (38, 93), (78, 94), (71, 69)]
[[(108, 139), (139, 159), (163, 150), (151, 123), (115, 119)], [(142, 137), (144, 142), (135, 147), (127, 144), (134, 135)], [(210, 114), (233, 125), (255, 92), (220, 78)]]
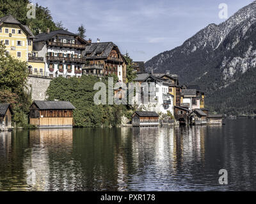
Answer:
[(148, 71), (170, 70), (205, 91), (216, 112), (256, 114), (256, 1), (225, 22), (210, 24), (180, 47), (145, 63)]

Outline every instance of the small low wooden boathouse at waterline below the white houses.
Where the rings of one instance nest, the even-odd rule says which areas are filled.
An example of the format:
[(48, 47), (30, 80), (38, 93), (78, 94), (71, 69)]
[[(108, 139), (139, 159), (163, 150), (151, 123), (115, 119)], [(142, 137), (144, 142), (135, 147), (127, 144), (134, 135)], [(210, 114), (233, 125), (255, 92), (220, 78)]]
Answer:
[(159, 115), (156, 112), (136, 111), (132, 115), (133, 127), (153, 127), (159, 125)]

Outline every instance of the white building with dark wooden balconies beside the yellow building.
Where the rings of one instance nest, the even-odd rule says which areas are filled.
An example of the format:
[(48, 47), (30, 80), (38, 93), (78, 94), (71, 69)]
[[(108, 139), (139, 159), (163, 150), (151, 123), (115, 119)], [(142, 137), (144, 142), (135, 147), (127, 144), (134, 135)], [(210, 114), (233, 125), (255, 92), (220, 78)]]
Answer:
[(33, 50), (38, 57), (44, 57), (45, 76), (47, 77), (81, 77), (82, 56), (88, 42), (64, 30), (38, 34), (33, 41)]

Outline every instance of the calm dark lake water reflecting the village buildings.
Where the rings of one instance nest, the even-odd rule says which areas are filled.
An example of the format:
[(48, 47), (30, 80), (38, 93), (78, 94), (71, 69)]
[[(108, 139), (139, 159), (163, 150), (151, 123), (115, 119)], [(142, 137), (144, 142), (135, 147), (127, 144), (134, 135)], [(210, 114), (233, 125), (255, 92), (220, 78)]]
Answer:
[(0, 191), (255, 191), (256, 120), (223, 122), (0, 133)]

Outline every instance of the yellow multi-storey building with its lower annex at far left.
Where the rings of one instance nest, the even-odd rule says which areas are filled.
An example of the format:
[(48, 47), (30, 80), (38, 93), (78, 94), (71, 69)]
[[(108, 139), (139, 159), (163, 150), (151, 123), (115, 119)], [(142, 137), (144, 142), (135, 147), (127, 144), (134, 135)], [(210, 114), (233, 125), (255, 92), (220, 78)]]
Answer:
[(12, 15), (0, 18), (0, 41), (6, 46), (6, 53), (28, 62), (31, 74), (44, 75), (44, 58), (33, 53), (34, 38), (29, 27), (20, 24)]

